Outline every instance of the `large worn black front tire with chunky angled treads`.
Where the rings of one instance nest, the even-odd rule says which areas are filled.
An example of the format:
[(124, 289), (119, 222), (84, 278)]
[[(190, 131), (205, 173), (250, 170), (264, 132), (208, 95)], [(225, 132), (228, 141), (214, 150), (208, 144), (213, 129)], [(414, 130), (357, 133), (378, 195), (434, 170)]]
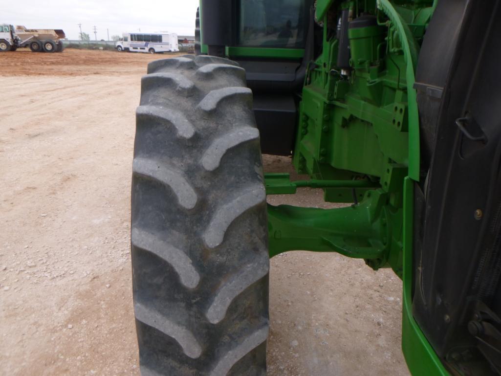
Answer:
[(132, 176), (143, 376), (266, 374), (266, 193), (252, 92), (211, 56), (148, 65)]

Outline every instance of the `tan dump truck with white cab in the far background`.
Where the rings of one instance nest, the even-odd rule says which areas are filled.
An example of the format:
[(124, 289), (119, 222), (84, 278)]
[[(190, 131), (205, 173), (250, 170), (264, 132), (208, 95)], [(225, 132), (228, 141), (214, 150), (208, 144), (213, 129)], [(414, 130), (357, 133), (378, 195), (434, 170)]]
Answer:
[(62, 52), (66, 36), (59, 29), (26, 29), (24, 26), (0, 24), (0, 52), (29, 47), (33, 52)]

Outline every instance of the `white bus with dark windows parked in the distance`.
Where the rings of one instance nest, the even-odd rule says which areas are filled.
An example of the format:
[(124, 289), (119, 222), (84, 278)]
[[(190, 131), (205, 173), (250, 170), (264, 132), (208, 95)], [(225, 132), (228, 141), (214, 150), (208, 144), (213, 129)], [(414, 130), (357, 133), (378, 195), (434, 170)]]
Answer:
[(146, 34), (146, 33), (123, 33), (122, 38), (115, 42), (118, 52), (177, 52), (177, 34)]

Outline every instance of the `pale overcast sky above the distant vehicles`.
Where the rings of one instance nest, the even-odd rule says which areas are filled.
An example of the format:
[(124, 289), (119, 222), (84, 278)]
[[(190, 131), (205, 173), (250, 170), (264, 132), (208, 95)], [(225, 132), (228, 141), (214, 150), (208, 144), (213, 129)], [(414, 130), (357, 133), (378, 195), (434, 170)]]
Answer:
[(0, 0), (0, 23), (23, 25), (28, 29), (63, 29), (68, 39), (82, 32), (94, 40), (108, 39), (124, 32), (168, 31), (194, 35), (198, 0)]

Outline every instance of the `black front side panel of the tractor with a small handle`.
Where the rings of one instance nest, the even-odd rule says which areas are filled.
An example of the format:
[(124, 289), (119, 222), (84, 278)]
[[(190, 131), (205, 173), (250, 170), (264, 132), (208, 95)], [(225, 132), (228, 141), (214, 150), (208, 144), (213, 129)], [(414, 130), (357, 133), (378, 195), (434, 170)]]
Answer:
[(501, 374), (501, 2), (441, 1), (416, 72), (413, 314), (452, 374)]

